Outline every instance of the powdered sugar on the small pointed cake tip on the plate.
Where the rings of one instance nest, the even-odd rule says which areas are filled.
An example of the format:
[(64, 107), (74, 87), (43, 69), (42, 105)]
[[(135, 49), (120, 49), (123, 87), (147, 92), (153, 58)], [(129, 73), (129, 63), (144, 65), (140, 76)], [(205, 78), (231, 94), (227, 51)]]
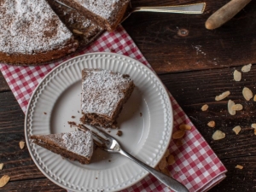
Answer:
[(63, 147), (75, 154), (90, 158), (93, 153), (91, 131), (72, 131), (63, 133)]

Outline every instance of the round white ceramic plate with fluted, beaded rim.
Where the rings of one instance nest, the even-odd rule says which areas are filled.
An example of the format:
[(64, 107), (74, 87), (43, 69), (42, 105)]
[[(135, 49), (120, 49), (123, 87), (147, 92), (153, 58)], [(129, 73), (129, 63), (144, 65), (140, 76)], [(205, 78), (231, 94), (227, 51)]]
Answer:
[(73, 131), (67, 121), (79, 123), (83, 68), (103, 68), (131, 76), (136, 88), (118, 119), (123, 136), (117, 137), (117, 130), (112, 130), (111, 134), (137, 159), (149, 166), (158, 164), (172, 135), (172, 107), (166, 89), (148, 67), (113, 53), (74, 57), (56, 67), (38, 84), (26, 112), (27, 147), (41, 172), (65, 189), (105, 192), (125, 189), (148, 172), (121, 154), (97, 149), (90, 165), (81, 165), (33, 144), (29, 138), (36, 134)]

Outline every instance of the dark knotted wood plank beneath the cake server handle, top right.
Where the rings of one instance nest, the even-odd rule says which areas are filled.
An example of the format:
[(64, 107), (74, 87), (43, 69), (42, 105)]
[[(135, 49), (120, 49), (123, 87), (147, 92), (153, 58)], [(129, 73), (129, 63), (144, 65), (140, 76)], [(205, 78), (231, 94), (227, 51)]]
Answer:
[[(123, 26), (157, 73), (238, 66), (256, 62), (256, 2), (224, 26), (209, 31), (205, 21), (229, 0), (204, 1), (203, 15), (134, 13)], [(132, 5), (198, 3), (194, 0), (137, 0)], [(184, 37), (179, 35), (184, 32)]]

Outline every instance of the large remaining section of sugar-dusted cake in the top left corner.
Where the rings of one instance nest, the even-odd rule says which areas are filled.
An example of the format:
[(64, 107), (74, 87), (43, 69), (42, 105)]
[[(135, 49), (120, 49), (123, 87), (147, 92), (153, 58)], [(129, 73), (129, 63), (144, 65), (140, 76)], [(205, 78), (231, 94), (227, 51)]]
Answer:
[(55, 60), (79, 45), (44, 0), (1, 0), (0, 39), (0, 61), (19, 65)]

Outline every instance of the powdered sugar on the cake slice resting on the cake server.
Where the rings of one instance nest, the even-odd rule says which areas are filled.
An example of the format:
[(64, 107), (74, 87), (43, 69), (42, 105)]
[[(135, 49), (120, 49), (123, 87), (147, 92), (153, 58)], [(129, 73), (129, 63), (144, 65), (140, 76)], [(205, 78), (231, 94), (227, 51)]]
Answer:
[(128, 0), (76, 0), (85, 9), (90, 10), (96, 15), (113, 23), (117, 19), (117, 13), (125, 4), (129, 3)]

